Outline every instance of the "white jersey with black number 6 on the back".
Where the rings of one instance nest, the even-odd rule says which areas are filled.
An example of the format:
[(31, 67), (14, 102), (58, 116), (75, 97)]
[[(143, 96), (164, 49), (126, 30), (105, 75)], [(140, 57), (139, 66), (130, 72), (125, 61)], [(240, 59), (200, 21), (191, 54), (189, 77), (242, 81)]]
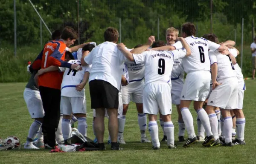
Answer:
[(185, 40), (191, 49), (191, 55), (182, 59), (185, 72), (188, 74), (193, 71), (210, 71), (208, 50), (215, 51), (220, 45), (202, 37), (190, 36)]

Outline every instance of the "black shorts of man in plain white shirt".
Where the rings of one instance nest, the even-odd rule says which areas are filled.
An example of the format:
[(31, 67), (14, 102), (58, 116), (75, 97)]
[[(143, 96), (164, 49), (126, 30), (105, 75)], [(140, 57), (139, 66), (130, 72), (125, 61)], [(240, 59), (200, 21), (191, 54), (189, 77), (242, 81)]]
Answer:
[(91, 108), (116, 108), (118, 109), (118, 93), (113, 85), (104, 80), (92, 80), (89, 82)]

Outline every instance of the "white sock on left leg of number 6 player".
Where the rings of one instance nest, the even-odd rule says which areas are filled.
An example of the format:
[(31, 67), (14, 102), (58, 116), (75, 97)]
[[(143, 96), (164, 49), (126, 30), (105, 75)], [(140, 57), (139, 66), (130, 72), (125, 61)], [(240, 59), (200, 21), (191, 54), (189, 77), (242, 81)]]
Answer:
[(187, 107), (183, 107), (181, 109), (181, 115), (182, 115), (183, 121), (185, 123), (186, 130), (189, 135), (189, 139), (196, 137), (195, 130), (194, 130), (193, 117), (192, 117), (192, 114), (190, 113), (189, 109)]

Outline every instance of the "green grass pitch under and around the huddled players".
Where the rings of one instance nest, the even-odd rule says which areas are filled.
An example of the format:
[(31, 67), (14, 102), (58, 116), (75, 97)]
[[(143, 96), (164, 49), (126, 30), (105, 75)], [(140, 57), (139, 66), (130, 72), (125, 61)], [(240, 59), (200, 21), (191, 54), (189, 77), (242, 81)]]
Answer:
[[(23, 99), (23, 90), (26, 83), (0, 83), (0, 137), (17, 136), (21, 143), (26, 141), (30, 119)], [(159, 151), (151, 150), (151, 144), (140, 143), (140, 130), (137, 125), (137, 112), (134, 103), (131, 103), (125, 125), (124, 138), (127, 144), (122, 145), (123, 151), (49, 153), (49, 150), (10, 150), (0, 151), (0, 163), (255, 163), (256, 162), (256, 81), (246, 81), (244, 94), (244, 114), (246, 116), (245, 141), (246, 145), (234, 147), (202, 147), (201, 143), (192, 147), (183, 148), (177, 142), (177, 112), (173, 106), (172, 121), (175, 124), (175, 143), (178, 148), (170, 150), (165, 143)], [(90, 95), (87, 96), (87, 136), (94, 138), (92, 132), (92, 110), (90, 109)], [(191, 108), (192, 109), (192, 108)], [(196, 113), (191, 110), (196, 127)], [(105, 120), (107, 121), (107, 120)], [(158, 122), (159, 124), (159, 122)], [(197, 131), (197, 129), (195, 129)], [(162, 139), (162, 129), (159, 124), (159, 136)], [(150, 139), (147, 131), (147, 136)], [(108, 130), (105, 130), (107, 142)]]

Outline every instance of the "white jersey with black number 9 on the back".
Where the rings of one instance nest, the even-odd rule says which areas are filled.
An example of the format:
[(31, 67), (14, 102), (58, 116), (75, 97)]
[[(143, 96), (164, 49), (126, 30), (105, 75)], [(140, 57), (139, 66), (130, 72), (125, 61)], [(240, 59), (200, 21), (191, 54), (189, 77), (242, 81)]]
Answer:
[(186, 50), (145, 51), (134, 54), (136, 64), (145, 64), (145, 85), (151, 82), (167, 82), (171, 85), (172, 66), (175, 59), (186, 56)]

